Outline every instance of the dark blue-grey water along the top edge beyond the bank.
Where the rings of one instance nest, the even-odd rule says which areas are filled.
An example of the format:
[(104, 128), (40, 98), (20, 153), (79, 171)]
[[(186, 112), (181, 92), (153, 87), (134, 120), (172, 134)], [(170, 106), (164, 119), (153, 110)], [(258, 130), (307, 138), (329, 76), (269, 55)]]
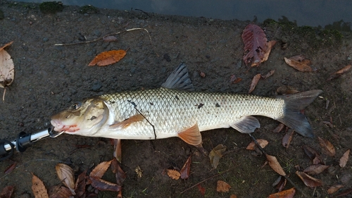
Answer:
[[(40, 0), (25, 0), (37, 2)], [(140, 9), (150, 13), (178, 16), (196, 16), (225, 20), (254, 20), (267, 18), (288, 19), (297, 25), (332, 27), (351, 31), (352, 1), (315, 0), (62, 0), (64, 5), (84, 6), (119, 10)]]

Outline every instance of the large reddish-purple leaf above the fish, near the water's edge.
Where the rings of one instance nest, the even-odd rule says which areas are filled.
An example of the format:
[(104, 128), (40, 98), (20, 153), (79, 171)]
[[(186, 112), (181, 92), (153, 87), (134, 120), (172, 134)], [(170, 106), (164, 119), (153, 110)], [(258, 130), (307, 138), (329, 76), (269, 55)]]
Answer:
[(244, 63), (251, 63), (252, 67), (259, 66), (267, 49), (268, 39), (264, 31), (258, 25), (249, 24), (244, 28), (241, 37), (244, 42)]

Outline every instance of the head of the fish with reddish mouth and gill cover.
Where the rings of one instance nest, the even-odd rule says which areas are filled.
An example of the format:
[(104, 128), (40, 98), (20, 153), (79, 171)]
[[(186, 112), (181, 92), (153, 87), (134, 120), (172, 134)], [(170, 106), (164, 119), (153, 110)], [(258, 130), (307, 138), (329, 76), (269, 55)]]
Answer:
[(109, 111), (103, 99), (90, 98), (72, 104), (68, 109), (51, 116), (57, 132), (92, 136), (108, 120)]

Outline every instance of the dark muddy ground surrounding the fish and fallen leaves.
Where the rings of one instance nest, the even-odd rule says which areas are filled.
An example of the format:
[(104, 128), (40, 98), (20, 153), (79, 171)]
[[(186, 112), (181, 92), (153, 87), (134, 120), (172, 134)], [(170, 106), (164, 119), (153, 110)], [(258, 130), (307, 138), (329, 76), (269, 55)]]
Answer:
[[(253, 135), (270, 143), (266, 151), (277, 156), (289, 178), (310, 197), (332, 197), (327, 189), (332, 185), (352, 186), (352, 161), (339, 167), (339, 158), (351, 144), (352, 73), (327, 81), (329, 75), (351, 64), (351, 34), (338, 34), (303, 28), (282, 26), (267, 21), (258, 24), (269, 40), (277, 40), (268, 61), (258, 68), (249, 68), (241, 60), (243, 44), (241, 32), (251, 21), (213, 20), (180, 16), (161, 16), (140, 11), (99, 10), (99, 13), (79, 13), (77, 6), (64, 6), (62, 12), (44, 14), (38, 4), (13, 4), (1, 1), (0, 43), (14, 41), (6, 51), (15, 63), (15, 80), (7, 87), (5, 101), (0, 108), (0, 139), (13, 140), (18, 132), (37, 132), (49, 126), (50, 116), (74, 101), (103, 93), (159, 87), (176, 66), (184, 62), (198, 91), (247, 93), (251, 78), (257, 73), (275, 74), (260, 80), (253, 94), (270, 96), (278, 87), (289, 85), (299, 91), (322, 89), (324, 93), (308, 106), (305, 114), (310, 120), (315, 137), (295, 134), (289, 148), (282, 146), (284, 132), (272, 130), (278, 122), (258, 117), (261, 128)], [(286, 25), (291, 23), (286, 23)], [(143, 30), (118, 35), (117, 42), (93, 42), (66, 47), (56, 43), (80, 42), (133, 27)], [(299, 29), (299, 30), (298, 30)], [(295, 31), (298, 30), (298, 31)], [(307, 31), (307, 32), (300, 32)], [(335, 32), (336, 33), (336, 32)], [(286, 46), (285, 46), (286, 44)], [(283, 47), (284, 46), (284, 47)], [(96, 54), (113, 49), (128, 49), (120, 62), (106, 67), (89, 67)], [(304, 54), (313, 61), (317, 70), (302, 73), (284, 63), (284, 57)], [(205, 78), (199, 72), (206, 74)], [(236, 75), (243, 80), (230, 82)], [(1, 95), (4, 89), (1, 89)], [(329, 105), (327, 106), (327, 100)], [(332, 122), (326, 125), (323, 121)], [(210, 166), (208, 157), (202, 156), (178, 138), (165, 140), (125, 140), (122, 142), (122, 169), (127, 173), (123, 197), (203, 197), (198, 187), (180, 192), (198, 182), (206, 189), (205, 197), (268, 197), (276, 192), (272, 183), (277, 173), (266, 165), (265, 156), (256, 156), (244, 149), (251, 139), (234, 129), (203, 132), (203, 145), (210, 151), (218, 144), (227, 147), (227, 154), (217, 169)], [(322, 154), (329, 166), (327, 171), (314, 175), (324, 182), (321, 187), (306, 187), (295, 174), (299, 165), (306, 168), (312, 163), (304, 154), (303, 145), (320, 153), (318, 137), (323, 137), (337, 149), (333, 157)], [(89, 145), (77, 149), (77, 145)], [(191, 175), (188, 180), (172, 180), (164, 174), (165, 168), (182, 168), (192, 154)], [(46, 187), (60, 185), (55, 172), (58, 161), (64, 161), (81, 173), (101, 161), (113, 157), (113, 145), (103, 138), (61, 135), (56, 139), (37, 142), (24, 153), (15, 153), (0, 163), (0, 189), (14, 185), (13, 197), (34, 197), (31, 190), (31, 173), (44, 181)], [(17, 168), (4, 174), (13, 161)], [(134, 169), (140, 166), (142, 178)], [(230, 170), (229, 170), (230, 169)], [(223, 171), (227, 171), (222, 173)], [(106, 180), (114, 182), (113, 174)], [(222, 173), (222, 175), (213, 175)], [(217, 180), (231, 185), (230, 192), (216, 192)], [(287, 184), (285, 189), (292, 187)], [(99, 192), (99, 197), (115, 197), (115, 192)], [(352, 197), (351, 194), (346, 197)], [(296, 192), (295, 197), (303, 197)]]

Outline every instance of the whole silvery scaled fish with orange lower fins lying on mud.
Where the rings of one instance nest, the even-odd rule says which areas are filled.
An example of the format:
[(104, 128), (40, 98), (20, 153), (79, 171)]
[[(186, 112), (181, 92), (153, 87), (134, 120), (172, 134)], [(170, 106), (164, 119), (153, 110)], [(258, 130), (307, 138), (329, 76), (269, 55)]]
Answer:
[(303, 137), (313, 137), (301, 110), (322, 90), (261, 97), (228, 92), (196, 92), (181, 63), (157, 89), (102, 94), (75, 102), (51, 116), (56, 132), (118, 140), (180, 137), (199, 147), (201, 131), (234, 128), (251, 133), (260, 128), (254, 116), (278, 120)]

